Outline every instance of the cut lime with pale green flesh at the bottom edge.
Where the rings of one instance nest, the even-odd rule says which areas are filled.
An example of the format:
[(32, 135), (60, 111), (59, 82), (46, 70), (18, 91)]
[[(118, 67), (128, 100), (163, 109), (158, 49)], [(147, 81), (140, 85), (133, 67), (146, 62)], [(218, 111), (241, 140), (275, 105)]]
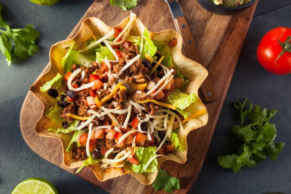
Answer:
[(28, 178), (20, 182), (11, 194), (58, 194), (58, 191), (49, 180)]

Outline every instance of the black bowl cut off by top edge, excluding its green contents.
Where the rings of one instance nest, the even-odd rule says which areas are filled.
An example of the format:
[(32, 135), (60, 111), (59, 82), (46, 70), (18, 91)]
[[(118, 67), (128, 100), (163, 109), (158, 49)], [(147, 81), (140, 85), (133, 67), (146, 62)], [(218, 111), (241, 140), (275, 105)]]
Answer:
[(243, 10), (249, 8), (256, 0), (252, 0), (251, 2), (238, 6), (238, 7), (222, 7), (215, 5), (214, 3), (210, 2), (210, 0), (197, 0), (198, 3), (207, 11), (223, 16), (234, 15), (237, 13), (242, 12)]

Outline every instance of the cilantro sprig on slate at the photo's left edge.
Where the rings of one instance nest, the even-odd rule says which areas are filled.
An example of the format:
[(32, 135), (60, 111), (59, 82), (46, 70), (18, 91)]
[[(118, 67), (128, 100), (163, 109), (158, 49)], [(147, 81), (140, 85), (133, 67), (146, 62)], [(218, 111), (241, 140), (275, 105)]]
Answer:
[[(0, 11), (2, 5), (0, 4)], [(12, 53), (19, 59), (27, 59), (38, 51), (35, 44), (36, 38), (40, 33), (34, 30), (34, 26), (28, 24), (24, 29), (10, 29), (10, 26), (3, 21), (0, 13), (0, 27), (6, 30), (0, 30), (0, 50), (6, 56), (8, 66), (11, 65)], [(12, 46), (14, 43), (14, 47)]]

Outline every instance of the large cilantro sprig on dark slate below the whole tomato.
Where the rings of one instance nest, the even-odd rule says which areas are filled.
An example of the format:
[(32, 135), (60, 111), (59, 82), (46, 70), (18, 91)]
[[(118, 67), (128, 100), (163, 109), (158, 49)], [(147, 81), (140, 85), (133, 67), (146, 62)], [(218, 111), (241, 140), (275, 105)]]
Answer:
[[(241, 125), (233, 125), (230, 129), (244, 144), (238, 154), (217, 157), (219, 165), (235, 173), (241, 172), (242, 166), (254, 167), (267, 156), (275, 161), (285, 146), (285, 143), (274, 143), (277, 130), (275, 124), (269, 123), (277, 110), (261, 109), (259, 105), (253, 106), (252, 102), (246, 104), (246, 101), (247, 98), (242, 103), (234, 103), (235, 108), (241, 110)], [(244, 124), (246, 118), (249, 121), (247, 125)]]

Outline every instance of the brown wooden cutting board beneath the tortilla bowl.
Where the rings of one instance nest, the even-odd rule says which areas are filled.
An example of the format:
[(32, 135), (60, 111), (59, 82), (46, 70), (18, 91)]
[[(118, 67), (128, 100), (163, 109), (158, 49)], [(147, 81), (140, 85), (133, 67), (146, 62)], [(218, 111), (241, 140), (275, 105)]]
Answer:
[[(181, 189), (174, 193), (184, 194), (191, 190), (201, 170), (257, 3), (235, 16), (213, 15), (204, 10), (196, 0), (179, 0), (179, 3), (188, 20), (202, 58), (208, 67), (210, 80), (217, 96), (216, 101), (206, 105), (209, 112), (208, 124), (188, 135), (187, 162), (185, 164), (169, 161), (162, 163), (162, 169), (166, 170), (170, 176), (178, 177), (180, 180)], [(138, 5), (132, 9), (132, 12), (151, 32), (166, 29), (176, 30), (170, 10), (165, 2), (138, 0)], [(76, 35), (81, 22), (91, 16), (101, 19), (109, 26), (114, 26), (129, 16), (129, 11), (124, 12), (118, 7), (110, 6), (109, 0), (95, 0), (68, 38)], [(40, 76), (48, 69), (49, 64)], [(39, 156), (75, 174), (76, 169), (68, 169), (63, 164), (61, 143), (57, 139), (41, 137), (35, 133), (34, 126), (42, 111), (43, 106), (40, 101), (29, 92), (20, 112), (20, 129), (24, 140)], [(84, 168), (77, 176), (109, 193), (127, 194), (134, 191), (135, 194), (149, 194), (154, 192), (151, 186), (145, 186), (129, 175), (100, 182), (89, 168)]]

